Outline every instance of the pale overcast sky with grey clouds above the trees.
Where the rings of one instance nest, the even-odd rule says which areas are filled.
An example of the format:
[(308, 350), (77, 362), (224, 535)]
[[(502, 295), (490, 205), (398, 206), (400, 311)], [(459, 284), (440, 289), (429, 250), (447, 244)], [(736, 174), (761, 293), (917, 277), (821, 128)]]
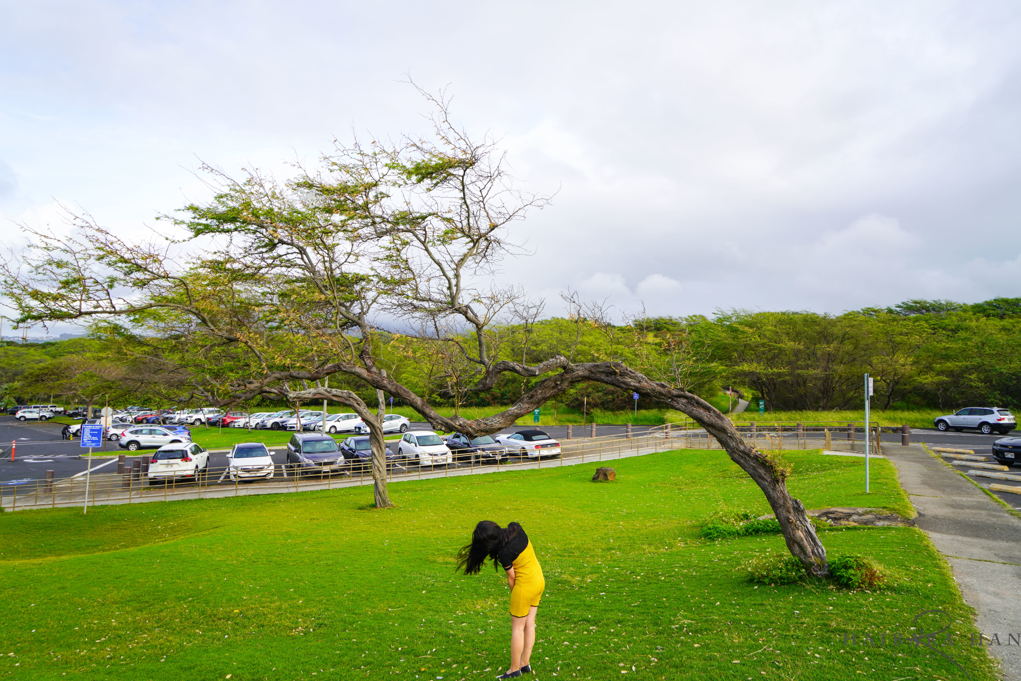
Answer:
[(840, 312), (1021, 295), (1016, 2), (0, 3), (0, 233), (118, 231), (228, 171), (425, 132), (502, 139), (535, 254), (617, 309)]

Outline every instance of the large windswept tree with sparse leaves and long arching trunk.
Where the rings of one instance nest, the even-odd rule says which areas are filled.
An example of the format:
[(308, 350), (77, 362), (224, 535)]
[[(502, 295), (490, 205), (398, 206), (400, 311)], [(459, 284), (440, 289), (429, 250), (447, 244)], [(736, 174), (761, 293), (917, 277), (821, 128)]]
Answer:
[[(216, 406), (259, 395), (349, 406), (370, 426), (378, 506), (390, 505), (382, 410), (374, 414), (352, 390), (328, 387), (330, 377), (363, 382), (411, 405), (434, 429), (472, 437), (512, 426), (577, 384), (639, 392), (706, 428), (762, 489), (790, 552), (811, 573), (826, 574), (825, 549), (787, 491), (782, 463), (745, 442), (670, 372), (653, 380), (620, 361), (497, 358), (496, 322), (523, 296), (480, 282), (491, 282), (501, 258), (517, 254), (514, 223), (547, 198), (518, 191), (495, 142), (474, 141), (448, 121), (445, 101), (429, 99), (436, 114), (428, 139), (335, 143), (317, 167), (295, 166), (286, 182), (203, 167), (212, 198), (161, 216), (174, 227), (149, 241), (74, 213), (70, 236), (23, 227), (32, 245), (3, 265), (19, 323), (123, 318), (150, 333), (172, 330), (190, 343), (231, 348), (244, 371), (235, 370), (229, 391), (206, 395)], [(490, 390), (508, 373), (532, 387), (491, 417), (440, 416), (381, 366), (385, 323), (431, 329), (430, 342), (448, 343), (475, 367), (467, 372), (473, 384), (461, 390)], [(445, 331), (455, 328), (470, 333)]]

